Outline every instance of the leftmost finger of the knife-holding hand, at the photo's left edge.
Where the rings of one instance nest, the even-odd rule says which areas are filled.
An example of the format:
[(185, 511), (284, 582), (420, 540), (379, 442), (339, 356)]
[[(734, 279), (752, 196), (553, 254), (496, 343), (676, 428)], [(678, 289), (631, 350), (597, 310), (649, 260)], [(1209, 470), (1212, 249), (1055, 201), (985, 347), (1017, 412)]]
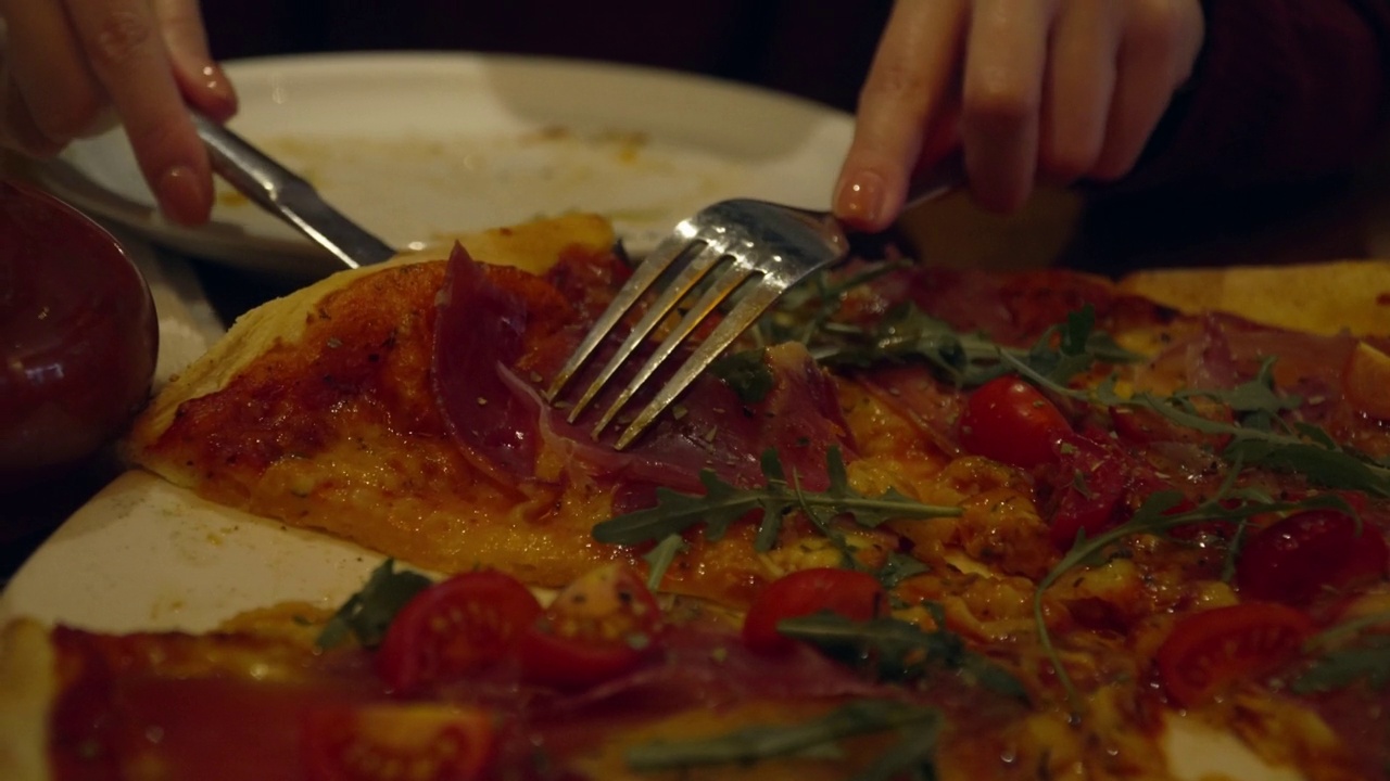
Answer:
[(26, 114), (53, 142), (89, 132), (106, 107), (106, 92), (86, 65), (63, 3), (0, 1), (8, 26), (6, 60)]

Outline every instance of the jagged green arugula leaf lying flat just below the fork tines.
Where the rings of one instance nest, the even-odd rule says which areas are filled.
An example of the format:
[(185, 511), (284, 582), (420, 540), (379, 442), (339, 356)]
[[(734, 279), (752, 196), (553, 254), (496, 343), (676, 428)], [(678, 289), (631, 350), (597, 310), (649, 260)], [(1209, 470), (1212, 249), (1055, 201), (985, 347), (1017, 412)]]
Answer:
[[(776, 542), (776, 529), (767, 524), (780, 520), (792, 510), (812, 507), (830, 516), (851, 516), (865, 527), (876, 527), (890, 518), (938, 518), (962, 513), (960, 507), (923, 504), (908, 499), (897, 491), (869, 498), (855, 492), (848, 485), (844, 461), (840, 452), (827, 454), (830, 486), (823, 492), (799, 491), (781, 477), (781, 463), (776, 453), (763, 457), (760, 488), (735, 488), (724, 482), (712, 470), (701, 471), (699, 479), (705, 493), (680, 493), (666, 488), (656, 489), (656, 504), (609, 518), (594, 527), (594, 539), (617, 545), (638, 545), (666, 539), (673, 534), (703, 524), (706, 539), (717, 541), (728, 531), (728, 525), (755, 510), (763, 511), (764, 527), (759, 534), (759, 545)], [(766, 550), (762, 549), (762, 550)]]

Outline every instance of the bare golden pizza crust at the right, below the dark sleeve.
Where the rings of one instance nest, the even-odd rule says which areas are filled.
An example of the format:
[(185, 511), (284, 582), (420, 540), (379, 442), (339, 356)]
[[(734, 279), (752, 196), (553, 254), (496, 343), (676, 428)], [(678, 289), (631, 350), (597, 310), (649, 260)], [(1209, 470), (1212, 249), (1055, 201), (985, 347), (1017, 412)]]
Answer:
[(1130, 274), (1119, 288), (1188, 314), (1229, 311), (1325, 335), (1390, 334), (1390, 260), (1165, 268)]

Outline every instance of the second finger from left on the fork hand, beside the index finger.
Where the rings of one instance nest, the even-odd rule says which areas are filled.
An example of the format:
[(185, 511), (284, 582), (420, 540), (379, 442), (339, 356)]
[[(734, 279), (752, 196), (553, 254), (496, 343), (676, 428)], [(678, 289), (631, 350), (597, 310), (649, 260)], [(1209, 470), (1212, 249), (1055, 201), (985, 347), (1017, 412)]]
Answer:
[(980, 0), (970, 17), (960, 132), (970, 192), (994, 211), (1013, 211), (1033, 192), (1055, 3)]

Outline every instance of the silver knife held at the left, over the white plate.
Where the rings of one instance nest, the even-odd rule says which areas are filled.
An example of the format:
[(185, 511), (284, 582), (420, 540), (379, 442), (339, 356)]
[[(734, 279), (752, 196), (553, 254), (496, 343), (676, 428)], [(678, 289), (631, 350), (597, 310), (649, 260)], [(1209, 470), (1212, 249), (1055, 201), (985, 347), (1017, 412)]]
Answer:
[(207, 145), (213, 170), (271, 214), (331, 252), (348, 268), (373, 265), (396, 250), (329, 206), (299, 178), (246, 139), (193, 113), (193, 126)]

